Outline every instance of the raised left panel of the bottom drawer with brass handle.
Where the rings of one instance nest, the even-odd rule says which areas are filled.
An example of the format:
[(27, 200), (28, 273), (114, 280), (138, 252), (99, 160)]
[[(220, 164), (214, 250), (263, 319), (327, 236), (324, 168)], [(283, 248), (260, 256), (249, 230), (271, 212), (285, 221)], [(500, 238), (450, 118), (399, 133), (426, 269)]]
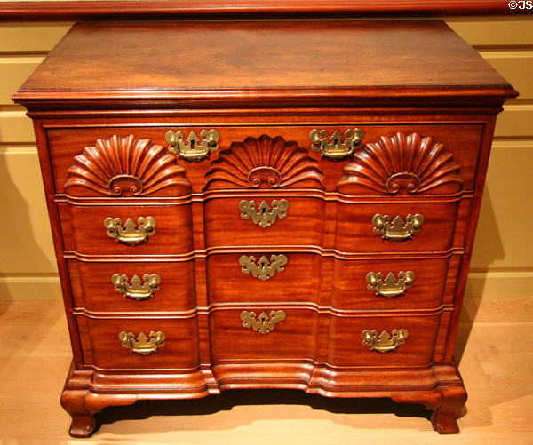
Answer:
[[(87, 321), (93, 363), (102, 369), (190, 369), (200, 364), (196, 317), (175, 319), (97, 319)], [(150, 332), (163, 332), (164, 345), (155, 343), (155, 352), (143, 355), (123, 346), (121, 332), (130, 333), (138, 351), (152, 347), (142, 341)], [(140, 341), (139, 341), (140, 340)]]

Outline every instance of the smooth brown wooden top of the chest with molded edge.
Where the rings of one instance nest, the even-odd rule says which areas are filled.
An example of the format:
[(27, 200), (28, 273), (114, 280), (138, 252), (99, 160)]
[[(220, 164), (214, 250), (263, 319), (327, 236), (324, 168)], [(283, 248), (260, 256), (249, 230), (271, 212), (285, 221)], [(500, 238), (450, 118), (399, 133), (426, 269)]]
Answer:
[(438, 20), (199, 21), (76, 24), (14, 99), (468, 105), (514, 94)]

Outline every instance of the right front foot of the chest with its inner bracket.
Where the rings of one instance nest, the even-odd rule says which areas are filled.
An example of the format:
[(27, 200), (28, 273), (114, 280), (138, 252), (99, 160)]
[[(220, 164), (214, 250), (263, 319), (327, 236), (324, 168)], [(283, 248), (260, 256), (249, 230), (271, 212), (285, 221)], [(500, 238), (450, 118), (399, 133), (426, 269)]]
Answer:
[(466, 391), (463, 386), (439, 386), (432, 391), (405, 392), (391, 394), (394, 401), (420, 403), (434, 411), (431, 424), (440, 434), (459, 432), (457, 417), (465, 406)]

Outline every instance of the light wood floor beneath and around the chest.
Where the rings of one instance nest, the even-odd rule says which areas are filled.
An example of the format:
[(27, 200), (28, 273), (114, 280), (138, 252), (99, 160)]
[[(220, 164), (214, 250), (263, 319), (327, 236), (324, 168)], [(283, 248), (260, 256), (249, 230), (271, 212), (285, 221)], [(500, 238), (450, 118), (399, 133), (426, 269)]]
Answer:
[(469, 399), (461, 433), (439, 436), (418, 405), (292, 391), (106, 409), (91, 439), (68, 436), (60, 391), (70, 362), (58, 301), (0, 302), (0, 443), (232, 445), (533, 443), (533, 298), (467, 298), (457, 361)]

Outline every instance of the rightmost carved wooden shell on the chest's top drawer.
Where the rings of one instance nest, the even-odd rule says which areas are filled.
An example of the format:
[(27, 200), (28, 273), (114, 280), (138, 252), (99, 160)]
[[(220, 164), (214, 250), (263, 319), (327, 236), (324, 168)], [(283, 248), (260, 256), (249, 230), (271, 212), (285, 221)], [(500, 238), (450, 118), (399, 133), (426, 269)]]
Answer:
[[(460, 166), (439, 142), (417, 133), (382, 136), (355, 153), (338, 181), (346, 193), (456, 193), (463, 186)], [(369, 190), (370, 189), (370, 190)], [(437, 192), (438, 189), (438, 192)]]

